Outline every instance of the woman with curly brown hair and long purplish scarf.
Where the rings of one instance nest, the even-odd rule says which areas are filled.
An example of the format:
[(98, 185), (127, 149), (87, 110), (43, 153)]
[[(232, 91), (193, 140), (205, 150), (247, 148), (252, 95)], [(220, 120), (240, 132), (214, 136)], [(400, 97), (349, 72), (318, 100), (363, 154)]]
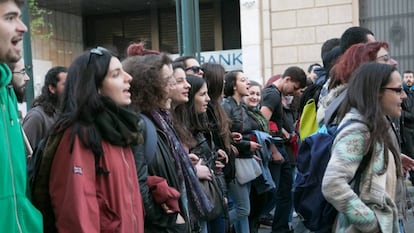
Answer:
[[(143, 44), (131, 46), (142, 47)], [(146, 54), (144, 48), (136, 51), (140, 52), (128, 54), (123, 62), (133, 78), (132, 107), (148, 117), (157, 131), (155, 155), (150, 160), (142, 161), (142, 158), (138, 162), (144, 163), (142, 167), (148, 169), (148, 177), (165, 179), (168, 187), (179, 193), (178, 197), (158, 193), (166, 195), (161, 199), (154, 193), (144, 195), (145, 209), (147, 213), (151, 211), (146, 216), (145, 232), (191, 232), (197, 228), (198, 218), (210, 211), (212, 205), (172, 125), (170, 95), (176, 88), (176, 80), (171, 59), (164, 53)]]

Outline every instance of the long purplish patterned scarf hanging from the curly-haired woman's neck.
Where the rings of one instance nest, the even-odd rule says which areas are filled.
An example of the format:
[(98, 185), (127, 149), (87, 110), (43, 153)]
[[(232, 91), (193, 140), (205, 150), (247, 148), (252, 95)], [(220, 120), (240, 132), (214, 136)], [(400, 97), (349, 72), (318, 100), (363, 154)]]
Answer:
[(187, 195), (188, 208), (197, 217), (206, 216), (212, 209), (212, 203), (204, 192), (191, 164), (190, 158), (184, 151), (180, 140), (172, 127), (171, 114), (166, 110), (153, 112), (152, 118), (160, 129), (167, 135), (168, 144), (174, 157), (180, 186)]

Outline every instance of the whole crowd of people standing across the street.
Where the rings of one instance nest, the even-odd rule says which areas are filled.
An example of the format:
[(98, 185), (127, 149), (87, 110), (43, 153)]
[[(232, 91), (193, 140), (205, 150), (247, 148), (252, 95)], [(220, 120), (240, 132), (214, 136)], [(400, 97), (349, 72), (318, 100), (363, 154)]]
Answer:
[[(414, 76), (370, 30), (347, 29), (324, 43), (323, 65), (289, 67), (264, 86), (142, 42), (123, 61), (96, 47), (51, 68), (21, 116), (22, 4), (0, 1), (1, 232), (294, 232), (300, 124), (310, 120), (346, 124), (322, 181), (339, 214), (318, 232), (406, 232)], [(304, 121), (310, 90), (317, 110)], [(33, 173), (46, 178), (31, 183)]]

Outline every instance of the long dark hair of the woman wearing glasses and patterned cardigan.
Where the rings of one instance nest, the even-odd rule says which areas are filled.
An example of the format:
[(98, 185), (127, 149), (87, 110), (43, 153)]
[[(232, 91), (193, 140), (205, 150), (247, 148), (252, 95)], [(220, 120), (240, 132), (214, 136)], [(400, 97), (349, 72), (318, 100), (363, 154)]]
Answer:
[[(384, 145), (384, 167), (379, 174), (387, 171), (391, 151), (396, 162), (397, 175), (402, 176), (399, 148), (396, 148), (389, 135), (391, 123), (381, 108), (384, 87), (391, 81), (391, 73), (396, 68), (387, 64), (370, 62), (363, 64), (352, 75), (348, 92), (339, 109), (338, 118), (342, 120), (351, 108), (357, 109), (366, 122), (370, 135), (368, 148), (377, 143)], [(398, 145), (397, 145), (398, 146)]]

